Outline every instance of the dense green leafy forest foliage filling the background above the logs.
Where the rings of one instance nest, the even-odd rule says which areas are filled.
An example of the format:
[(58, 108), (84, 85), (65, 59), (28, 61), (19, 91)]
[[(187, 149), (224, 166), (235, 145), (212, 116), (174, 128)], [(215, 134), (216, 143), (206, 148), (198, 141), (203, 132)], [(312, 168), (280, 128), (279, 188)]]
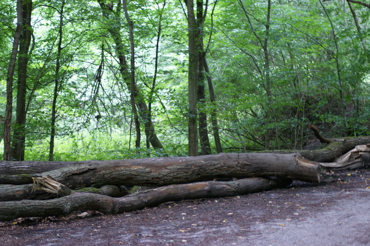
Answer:
[[(186, 7), (168, 0), (125, 5), (33, 1), (25, 159), (49, 159), (52, 128), (54, 160), (187, 155)], [(206, 100), (197, 107), (208, 117), (217, 112), (224, 152), (305, 148), (312, 135), (308, 124), (327, 137), (369, 135), (369, 8), (334, 0), (206, 5), (201, 35), (216, 101), (210, 102), (205, 86)], [(0, 9), (4, 115), (16, 3), (1, 1)], [(13, 90), (16, 97), (15, 85)], [(143, 132), (140, 148), (135, 115)], [(148, 120), (163, 149), (146, 141), (152, 136)], [(210, 120), (208, 134), (215, 153)]]

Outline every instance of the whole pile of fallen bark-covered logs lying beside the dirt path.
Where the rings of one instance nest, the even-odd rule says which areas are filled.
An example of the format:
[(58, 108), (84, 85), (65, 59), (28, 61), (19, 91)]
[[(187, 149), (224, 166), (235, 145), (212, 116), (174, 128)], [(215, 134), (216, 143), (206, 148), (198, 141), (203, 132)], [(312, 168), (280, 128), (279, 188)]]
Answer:
[[(359, 141), (343, 142), (348, 148), (348, 142)], [(368, 168), (369, 153), (370, 145), (357, 146), (332, 162), (276, 152), (80, 162), (2, 161), (0, 221), (77, 210), (121, 213), (167, 201), (283, 188), (293, 179), (318, 183), (320, 168)], [(155, 188), (128, 194), (126, 187), (132, 186)]]

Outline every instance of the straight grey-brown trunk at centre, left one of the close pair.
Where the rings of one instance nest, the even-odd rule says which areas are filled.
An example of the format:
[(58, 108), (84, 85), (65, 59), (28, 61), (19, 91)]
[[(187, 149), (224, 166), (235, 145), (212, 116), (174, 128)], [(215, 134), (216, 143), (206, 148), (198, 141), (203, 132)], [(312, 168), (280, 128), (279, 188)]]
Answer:
[(197, 68), (198, 51), (196, 46), (196, 20), (194, 15), (193, 0), (187, 1), (188, 10), (188, 35), (189, 35), (189, 75), (188, 75), (188, 97), (189, 97), (189, 156), (198, 154), (197, 136)]

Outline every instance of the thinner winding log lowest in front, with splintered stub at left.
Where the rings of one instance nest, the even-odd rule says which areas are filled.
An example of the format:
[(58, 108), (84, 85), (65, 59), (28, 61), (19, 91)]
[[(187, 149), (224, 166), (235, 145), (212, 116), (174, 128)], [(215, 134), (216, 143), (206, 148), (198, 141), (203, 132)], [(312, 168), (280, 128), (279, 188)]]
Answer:
[[(78, 210), (96, 210), (117, 214), (153, 207), (168, 201), (227, 197), (286, 187), (291, 180), (245, 178), (236, 181), (207, 181), (160, 187), (145, 192), (114, 198), (94, 193), (73, 192), (55, 180), (42, 177), (35, 181), (36, 190), (62, 196), (50, 200), (0, 202), (0, 221), (20, 217), (63, 215)], [(68, 195), (70, 192), (70, 195)]]

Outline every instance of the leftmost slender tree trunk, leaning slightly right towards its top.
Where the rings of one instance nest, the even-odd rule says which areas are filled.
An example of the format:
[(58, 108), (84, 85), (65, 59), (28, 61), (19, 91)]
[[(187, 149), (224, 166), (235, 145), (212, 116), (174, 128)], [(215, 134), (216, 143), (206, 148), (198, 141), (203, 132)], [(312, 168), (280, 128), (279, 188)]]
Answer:
[(13, 75), (18, 46), (21, 38), (22, 26), (22, 0), (17, 0), (17, 25), (14, 33), (13, 49), (10, 56), (7, 74), (7, 99), (4, 117), (4, 160), (11, 160), (11, 118), (13, 110)]

